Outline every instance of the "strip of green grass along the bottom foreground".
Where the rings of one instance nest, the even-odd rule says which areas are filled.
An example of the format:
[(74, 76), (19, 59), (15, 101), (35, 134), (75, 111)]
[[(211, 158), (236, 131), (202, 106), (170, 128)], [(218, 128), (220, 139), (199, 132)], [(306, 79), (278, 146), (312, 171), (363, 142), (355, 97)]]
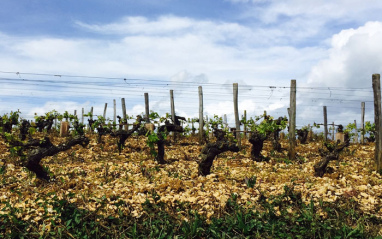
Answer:
[[(139, 218), (122, 213), (121, 209), (128, 205), (115, 198), (98, 199), (95, 212), (79, 209), (68, 199), (40, 201), (44, 208), (53, 206), (54, 211), (53, 216), (43, 215), (52, 224), (43, 232), (33, 218), (22, 220), (22, 211), (1, 202), (0, 210), (8, 213), (0, 213), (0, 238), (377, 238), (376, 228), (382, 224), (380, 219), (363, 215), (354, 207), (355, 202), (345, 208), (338, 203), (315, 205), (313, 201), (306, 205), (301, 195), (288, 186), (281, 195), (262, 196), (256, 210), (239, 205), (238, 195), (232, 195), (223, 216), (210, 220), (188, 204), (169, 206), (155, 192), (148, 196), (153, 200), (142, 204), (144, 213)], [(117, 216), (97, 213), (106, 204), (117, 208)], [(178, 212), (185, 212), (187, 220), (182, 220)]]

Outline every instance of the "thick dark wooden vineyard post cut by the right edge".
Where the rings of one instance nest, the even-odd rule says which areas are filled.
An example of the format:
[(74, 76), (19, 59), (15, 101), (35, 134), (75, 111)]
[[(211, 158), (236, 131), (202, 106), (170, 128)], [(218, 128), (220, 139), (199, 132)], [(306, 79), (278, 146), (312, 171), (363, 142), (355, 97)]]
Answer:
[(382, 173), (382, 132), (381, 132), (381, 80), (379, 74), (373, 74), (374, 123), (375, 123), (375, 164), (378, 173)]

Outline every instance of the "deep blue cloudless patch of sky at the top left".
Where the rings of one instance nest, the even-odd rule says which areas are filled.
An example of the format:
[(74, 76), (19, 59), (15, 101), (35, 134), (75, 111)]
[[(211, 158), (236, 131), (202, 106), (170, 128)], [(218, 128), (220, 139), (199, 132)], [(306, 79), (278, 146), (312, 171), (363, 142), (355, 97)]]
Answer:
[[(240, 20), (241, 6), (227, 1), (11, 1), (1, 3), (4, 32), (19, 35), (86, 36), (76, 21), (109, 23), (125, 16), (187, 16), (197, 19)], [(47, 24), (49, 22), (49, 24)]]

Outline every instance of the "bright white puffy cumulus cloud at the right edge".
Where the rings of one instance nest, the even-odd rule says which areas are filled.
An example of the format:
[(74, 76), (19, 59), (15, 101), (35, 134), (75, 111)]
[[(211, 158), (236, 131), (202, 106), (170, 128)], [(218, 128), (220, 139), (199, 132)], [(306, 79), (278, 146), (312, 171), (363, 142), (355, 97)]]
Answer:
[(334, 35), (328, 58), (312, 68), (308, 84), (350, 88), (371, 86), (371, 75), (382, 72), (381, 42), (381, 22), (368, 22)]

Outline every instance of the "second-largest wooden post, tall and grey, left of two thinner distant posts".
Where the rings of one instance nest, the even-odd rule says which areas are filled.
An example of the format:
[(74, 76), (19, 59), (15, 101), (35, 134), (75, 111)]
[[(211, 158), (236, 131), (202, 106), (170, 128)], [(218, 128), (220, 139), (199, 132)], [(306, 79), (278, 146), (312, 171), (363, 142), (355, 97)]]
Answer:
[(289, 159), (296, 158), (296, 80), (290, 83), (290, 106), (289, 106)]

